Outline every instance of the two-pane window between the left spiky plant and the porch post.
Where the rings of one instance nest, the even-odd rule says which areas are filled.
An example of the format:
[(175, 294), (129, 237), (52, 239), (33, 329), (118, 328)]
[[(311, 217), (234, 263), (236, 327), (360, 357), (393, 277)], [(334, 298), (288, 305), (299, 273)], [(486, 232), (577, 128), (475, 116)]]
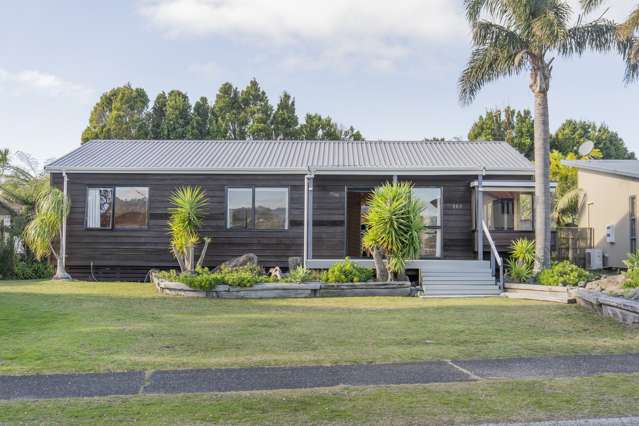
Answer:
[(288, 229), (288, 188), (228, 188), (228, 229)]

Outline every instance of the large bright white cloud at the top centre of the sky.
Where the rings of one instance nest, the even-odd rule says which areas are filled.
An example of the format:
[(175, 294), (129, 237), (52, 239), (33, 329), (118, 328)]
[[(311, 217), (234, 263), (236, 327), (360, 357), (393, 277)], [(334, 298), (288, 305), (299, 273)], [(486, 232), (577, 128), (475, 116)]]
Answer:
[[(143, 0), (139, 11), (173, 38), (220, 35), (281, 53), (287, 68), (385, 71), (428, 44), (465, 41), (451, 0)], [(293, 49), (291, 48), (293, 47)]]

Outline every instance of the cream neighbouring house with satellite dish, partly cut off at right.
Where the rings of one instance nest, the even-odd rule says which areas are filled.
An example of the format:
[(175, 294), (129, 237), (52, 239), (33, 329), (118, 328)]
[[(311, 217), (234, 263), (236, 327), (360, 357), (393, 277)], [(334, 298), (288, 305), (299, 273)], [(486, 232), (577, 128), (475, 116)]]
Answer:
[(583, 191), (578, 225), (591, 228), (593, 247), (603, 253), (605, 267), (623, 268), (628, 253), (637, 250), (639, 161), (564, 160), (577, 168)]

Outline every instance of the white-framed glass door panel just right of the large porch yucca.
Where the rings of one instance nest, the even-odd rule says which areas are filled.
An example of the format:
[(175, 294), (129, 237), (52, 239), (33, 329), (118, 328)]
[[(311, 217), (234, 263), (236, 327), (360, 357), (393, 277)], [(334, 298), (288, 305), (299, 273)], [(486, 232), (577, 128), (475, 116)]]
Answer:
[(421, 233), (422, 257), (441, 257), (441, 188), (413, 188), (413, 196), (420, 199), (424, 210), (424, 230)]

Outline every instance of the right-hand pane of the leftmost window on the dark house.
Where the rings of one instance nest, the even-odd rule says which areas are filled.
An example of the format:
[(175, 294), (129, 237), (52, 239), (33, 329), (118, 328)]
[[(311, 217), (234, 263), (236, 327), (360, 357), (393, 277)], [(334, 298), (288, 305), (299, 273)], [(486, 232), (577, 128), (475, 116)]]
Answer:
[(118, 229), (146, 228), (148, 223), (149, 188), (115, 188), (114, 227)]

